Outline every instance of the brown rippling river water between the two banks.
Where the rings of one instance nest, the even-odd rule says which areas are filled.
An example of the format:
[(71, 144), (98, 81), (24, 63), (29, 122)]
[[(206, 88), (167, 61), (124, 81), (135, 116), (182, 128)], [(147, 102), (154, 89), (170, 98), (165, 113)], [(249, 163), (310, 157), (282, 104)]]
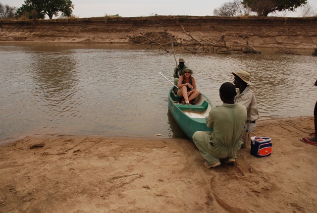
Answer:
[[(313, 115), (317, 57), (177, 54), (197, 87), (221, 105), (230, 71), (252, 77), (260, 119)], [(185, 137), (167, 94), (173, 54), (101, 44), (0, 43), (0, 142), (33, 134)]]

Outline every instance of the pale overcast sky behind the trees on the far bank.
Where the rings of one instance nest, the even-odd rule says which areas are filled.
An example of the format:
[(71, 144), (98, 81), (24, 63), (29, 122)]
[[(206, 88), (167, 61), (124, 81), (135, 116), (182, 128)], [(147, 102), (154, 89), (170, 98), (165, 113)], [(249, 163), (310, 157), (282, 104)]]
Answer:
[[(152, 16), (155, 14), (205, 16), (213, 15), (215, 8), (229, 1), (232, 0), (72, 0), (74, 4), (73, 15), (79, 18), (116, 14), (122, 17)], [(24, 0), (0, 0), (0, 3), (19, 8)], [(308, 0), (308, 3), (317, 10), (317, 0)], [(299, 17), (301, 12), (300, 9), (297, 9), (297, 12), (272, 15)]]

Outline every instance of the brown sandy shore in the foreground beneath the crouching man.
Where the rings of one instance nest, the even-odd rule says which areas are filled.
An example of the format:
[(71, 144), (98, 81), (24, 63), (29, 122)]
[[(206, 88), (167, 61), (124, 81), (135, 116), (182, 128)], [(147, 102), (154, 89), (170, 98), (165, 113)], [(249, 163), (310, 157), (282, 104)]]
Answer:
[(259, 121), (272, 155), (212, 169), (189, 140), (29, 136), (0, 146), (0, 212), (315, 212), (313, 122)]

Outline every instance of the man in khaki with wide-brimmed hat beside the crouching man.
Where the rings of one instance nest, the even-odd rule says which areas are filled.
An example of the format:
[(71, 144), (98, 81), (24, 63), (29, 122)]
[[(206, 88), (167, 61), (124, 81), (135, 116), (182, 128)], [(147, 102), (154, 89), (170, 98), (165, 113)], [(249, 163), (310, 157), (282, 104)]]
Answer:
[(256, 120), (259, 118), (257, 100), (253, 91), (250, 89), (250, 86), (252, 85), (250, 82), (250, 74), (246, 71), (231, 73), (234, 75), (233, 84), (237, 88), (235, 101), (244, 105), (248, 112), (245, 131), (242, 135), (242, 147), (246, 147), (247, 143), (251, 140), (251, 133), (256, 128)]

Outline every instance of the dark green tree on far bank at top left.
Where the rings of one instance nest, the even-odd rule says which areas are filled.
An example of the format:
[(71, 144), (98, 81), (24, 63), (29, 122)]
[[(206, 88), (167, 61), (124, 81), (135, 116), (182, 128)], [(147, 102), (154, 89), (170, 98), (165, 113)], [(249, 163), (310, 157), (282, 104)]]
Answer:
[(57, 16), (58, 12), (61, 12), (62, 16), (69, 17), (74, 9), (71, 0), (25, 0), (24, 3), (18, 9), (17, 15), (29, 14), (29, 18), (32, 18), (33, 9), (38, 12), (38, 18), (48, 15), (50, 19), (53, 18), (53, 15)]

